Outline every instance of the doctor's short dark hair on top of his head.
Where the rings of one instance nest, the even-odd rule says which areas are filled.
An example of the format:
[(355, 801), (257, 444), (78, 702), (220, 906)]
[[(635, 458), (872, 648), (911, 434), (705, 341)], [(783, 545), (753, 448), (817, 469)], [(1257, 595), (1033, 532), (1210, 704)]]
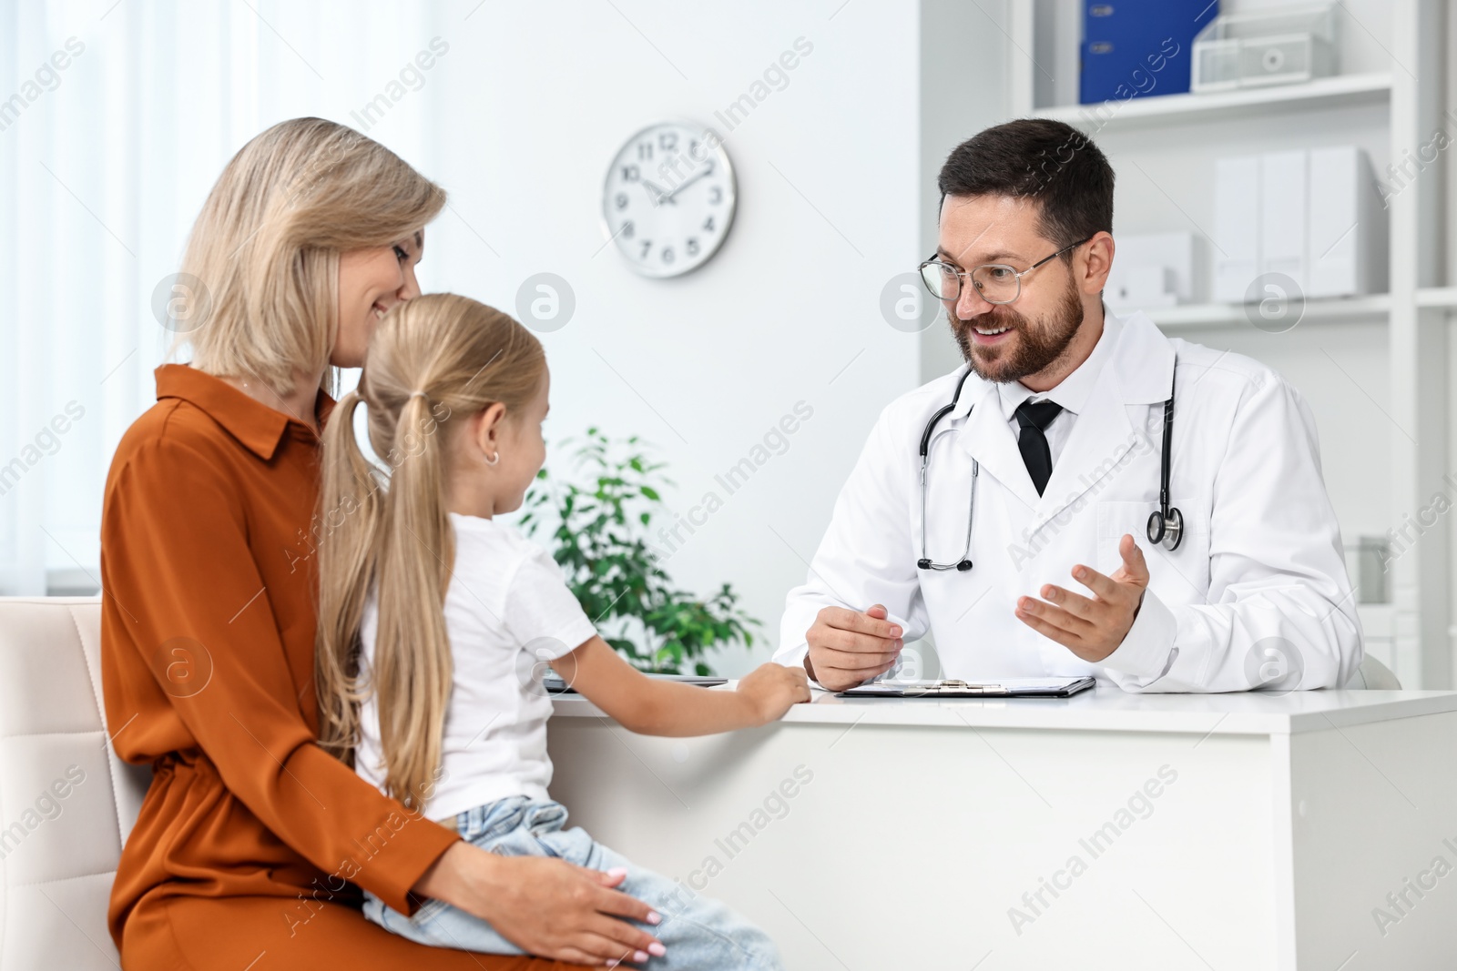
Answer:
[(1018, 118), (972, 135), (947, 156), (937, 188), (937, 213), (949, 195), (1034, 199), (1037, 231), (1058, 246), (1113, 231), (1113, 166), (1091, 138), (1050, 118)]

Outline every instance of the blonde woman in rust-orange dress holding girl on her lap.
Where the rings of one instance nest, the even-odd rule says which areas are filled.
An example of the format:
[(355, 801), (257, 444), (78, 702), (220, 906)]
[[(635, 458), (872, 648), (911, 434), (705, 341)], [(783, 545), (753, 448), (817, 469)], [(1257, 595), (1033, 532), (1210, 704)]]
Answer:
[(316, 741), (321, 387), (418, 296), (443, 205), (382, 146), (302, 118), (248, 143), (194, 226), (192, 364), (157, 368), (102, 512), (106, 721), (153, 767), (111, 897), (128, 970), (558, 967), (414, 945), (360, 916), (360, 887), (561, 961), (645, 959), (654, 940), (628, 920), (656, 914), (610, 889), (622, 873), (485, 853)]

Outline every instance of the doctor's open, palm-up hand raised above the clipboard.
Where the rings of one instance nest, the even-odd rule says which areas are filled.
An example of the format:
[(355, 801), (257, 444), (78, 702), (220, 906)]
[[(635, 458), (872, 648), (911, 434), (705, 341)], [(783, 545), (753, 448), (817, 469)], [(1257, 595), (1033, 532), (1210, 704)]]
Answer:
[(1048, 584), (1039, 591), (1043, 600), (1017, 598), (1017, 619), (1084, 661), (1097, 664), (1113, 654), (1134, 626), (1148, 587), (1148, 563), (1134, 537), (1125, 533), (1118, 552), (1123, 565), (1112, 576), (1081, 563), (1072, 568), (1072, 579), (1093, 591), (1093, 597)]

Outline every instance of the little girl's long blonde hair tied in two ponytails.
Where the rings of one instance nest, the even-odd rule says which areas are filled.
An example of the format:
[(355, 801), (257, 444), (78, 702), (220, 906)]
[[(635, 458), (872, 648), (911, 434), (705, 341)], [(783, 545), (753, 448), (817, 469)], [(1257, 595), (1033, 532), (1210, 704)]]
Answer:
[[(379, 712), (386, 790), (421, 808), (440, 766), (453, 667), (444, 595), (455, 565), (446, 515), (450, 475), (443, 434), (500, 402), (519, 415), (546, 374), (541, 342), (516, 320), (455, 294), (396, 304), (374, 329), (358, 389), (323, 429), (319, 494), (319, 639), (315, 674), (322, 744), (353, 761), (358, 705)], [(354, 409), (388, 469), (367, 461)], [(370, 670), (360, 622), (379, 604)]]

